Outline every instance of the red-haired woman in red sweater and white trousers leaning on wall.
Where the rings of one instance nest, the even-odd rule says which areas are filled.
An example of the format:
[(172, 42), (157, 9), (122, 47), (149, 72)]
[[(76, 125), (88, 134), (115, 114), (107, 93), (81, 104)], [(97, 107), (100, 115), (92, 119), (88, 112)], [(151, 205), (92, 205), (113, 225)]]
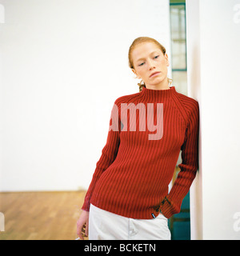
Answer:
[[(167, 78), (168, 56), (136, 38), (129, 65), (139, 92), (117, 98), (106, 146), (77, 222), (80, 239), (170, 239), (167, 219), (181, 209), (198, 169), (198, 102)], [(170, 192), (178, 155), (180, 172)]]

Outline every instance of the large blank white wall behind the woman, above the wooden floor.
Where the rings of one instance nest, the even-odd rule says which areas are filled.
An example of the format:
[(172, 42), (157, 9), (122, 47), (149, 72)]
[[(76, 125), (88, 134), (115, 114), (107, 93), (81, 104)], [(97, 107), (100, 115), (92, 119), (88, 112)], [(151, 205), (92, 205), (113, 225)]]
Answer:
[(86, 189), (114, 100), (138, 92), (130, 43), (150, 36), (170, 55), (169, 0), (0, 4), (0, 191)]

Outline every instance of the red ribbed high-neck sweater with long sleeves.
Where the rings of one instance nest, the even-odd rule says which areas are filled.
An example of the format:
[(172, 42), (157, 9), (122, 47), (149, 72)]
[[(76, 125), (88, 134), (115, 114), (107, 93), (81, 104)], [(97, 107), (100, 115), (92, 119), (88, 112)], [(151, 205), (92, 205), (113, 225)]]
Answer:
[[(130, 106), (134, 111), (127, 110)], [(137, 106), (142, 106), (141, 112)], [(143, 87), (139, 93), (117, 98), (82, 210), (88, 211), (91, 203), (128, 218), (177, 214), (198, 169), (198, 114), (198, 102), (174, 86)], [(180, 150), (181, 171), (169, 192)]]

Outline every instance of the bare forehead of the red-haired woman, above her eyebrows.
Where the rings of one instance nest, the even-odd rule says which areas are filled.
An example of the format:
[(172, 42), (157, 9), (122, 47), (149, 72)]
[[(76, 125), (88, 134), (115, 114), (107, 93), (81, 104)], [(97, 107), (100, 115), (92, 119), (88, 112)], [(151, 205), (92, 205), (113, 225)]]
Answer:
[(134, 47), (132, 51), (133, 61), (138, 61), (142, 58), (147, 58), (150, 54), (162, 53), (162, 50), (154, 42), (142, 42)]

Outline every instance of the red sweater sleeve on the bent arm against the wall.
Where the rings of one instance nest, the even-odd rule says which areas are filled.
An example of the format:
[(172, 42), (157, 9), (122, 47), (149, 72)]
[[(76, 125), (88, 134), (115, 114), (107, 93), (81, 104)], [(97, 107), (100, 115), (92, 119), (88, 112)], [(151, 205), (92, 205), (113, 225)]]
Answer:
[(198, 170), (198, 132), (199, 132), (199, 106), (194, 101), (190, 109), (185, 139), (182, 144), (182, 163), (179, 164), (180, 172), (170, 193), (162, 201), (160, 210), (166, 218), (178, 214), (181, 210), (182, 200), (190, 190)]

